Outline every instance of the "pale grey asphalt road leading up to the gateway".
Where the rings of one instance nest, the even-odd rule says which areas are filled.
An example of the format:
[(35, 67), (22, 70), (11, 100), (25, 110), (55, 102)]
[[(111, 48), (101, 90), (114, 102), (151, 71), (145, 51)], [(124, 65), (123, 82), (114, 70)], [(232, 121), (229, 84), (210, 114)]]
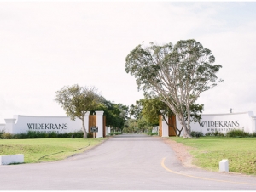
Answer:
[(1, 190), (248, 190), (256, 177), (185, 168), (160, 138), (109, 138), (63, 161), (0, 166)]

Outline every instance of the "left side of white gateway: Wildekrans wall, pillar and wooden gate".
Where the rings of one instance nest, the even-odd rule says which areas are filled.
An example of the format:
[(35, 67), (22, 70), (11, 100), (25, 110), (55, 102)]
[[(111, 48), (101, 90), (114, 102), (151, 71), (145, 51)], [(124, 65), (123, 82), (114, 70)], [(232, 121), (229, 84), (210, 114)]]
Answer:
[[(87, 133), (91, 133), (90, 127), (98, 127), (96, 138), (102, 138), (110, 133), (106, 127), (104, 111), (96, 111), (96, 115), (90, 115), (87, 111), (84, 116), (84, 124)], [(27, 131), (71, 133), (82, 131), (82, 121), (76, 118), (74, 121), (68, 116), (21, 116), (16, 115), (10, 119), (4, 119), (5, 124), (0, 124), (0, 131), (5, 133), (26, 133)]]

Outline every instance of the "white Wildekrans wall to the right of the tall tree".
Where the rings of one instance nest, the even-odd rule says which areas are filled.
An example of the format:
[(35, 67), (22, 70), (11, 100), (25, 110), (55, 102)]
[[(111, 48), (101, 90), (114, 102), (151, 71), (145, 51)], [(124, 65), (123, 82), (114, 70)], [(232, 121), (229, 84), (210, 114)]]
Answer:
[[(204, 134), (216, 131), (225, 134), (234, 129), (254, 133), (256, 132), (256, 116), (253, 116), (252, 111), (228, 114), (202, 114), (201, 121), (191, 122), (190, 126), (191, 131), (202, 132)], [(181, 128), (178, 120), (177, 128)]]

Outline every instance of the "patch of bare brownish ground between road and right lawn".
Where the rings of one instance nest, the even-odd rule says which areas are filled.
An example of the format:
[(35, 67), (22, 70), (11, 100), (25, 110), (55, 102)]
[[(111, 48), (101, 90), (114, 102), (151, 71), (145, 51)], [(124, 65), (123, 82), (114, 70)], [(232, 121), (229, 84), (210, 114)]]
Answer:
[(162, 138), (166, 144), (168, 144), (172, 150), (174, 150), (177, 159), (181, 161), (184, 167), (196, 167), (192, 164), (193, 157), (189, 154), (189, 149), (192, 147), (185, 146), (184, 144), (177, 143), (170, 138)]

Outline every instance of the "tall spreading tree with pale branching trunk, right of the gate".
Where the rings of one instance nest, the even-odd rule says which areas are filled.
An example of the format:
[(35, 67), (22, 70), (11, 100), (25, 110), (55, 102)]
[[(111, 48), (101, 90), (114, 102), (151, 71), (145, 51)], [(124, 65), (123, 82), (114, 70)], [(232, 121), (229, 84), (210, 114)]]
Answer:
[[(158, 95), (184, 127), (184, 138), (190, 138), (190, 107), (202, 92), (217, 85), (216, 73), (222, 67), (213, 65), (212, 52), (194, 39), (143, 48), (138, 45), (125, 59), (125, 71), (135, 76), (138, 89)], [(184, 111), (187, 116), (184, 116)]]

